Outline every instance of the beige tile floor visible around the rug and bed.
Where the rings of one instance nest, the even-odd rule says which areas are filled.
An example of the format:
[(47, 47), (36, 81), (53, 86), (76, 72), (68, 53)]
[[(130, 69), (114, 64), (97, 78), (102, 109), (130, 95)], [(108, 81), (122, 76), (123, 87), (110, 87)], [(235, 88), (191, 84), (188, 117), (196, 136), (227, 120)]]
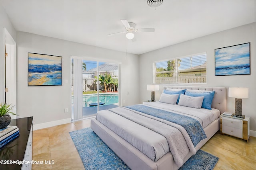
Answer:
[[(90, 119), (33, 131), (33, 170), (84, 170), (69, 132), (90, 127)], [(214, 170), (256, 170), (256, 138), (242, 139), (216, 133), (202, 150), (218, 156)], [(54, 161), (54, 164), (46, 164)]]

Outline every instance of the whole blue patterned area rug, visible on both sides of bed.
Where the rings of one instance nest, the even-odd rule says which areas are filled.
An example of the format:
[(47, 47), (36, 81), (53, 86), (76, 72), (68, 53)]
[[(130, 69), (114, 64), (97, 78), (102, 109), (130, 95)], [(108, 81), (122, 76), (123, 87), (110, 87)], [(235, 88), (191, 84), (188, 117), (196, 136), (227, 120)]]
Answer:
[[(70, 132), (86, 170), (130, 170), (90, 128)], [(198, 150), (179, 170), (212, 170), (218, 157)]]

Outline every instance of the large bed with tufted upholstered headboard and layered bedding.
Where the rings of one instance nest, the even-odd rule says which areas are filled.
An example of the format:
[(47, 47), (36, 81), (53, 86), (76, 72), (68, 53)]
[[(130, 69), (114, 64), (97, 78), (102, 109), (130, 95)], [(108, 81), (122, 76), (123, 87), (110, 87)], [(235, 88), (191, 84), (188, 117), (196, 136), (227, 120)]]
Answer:
[[(180, 91), (178, 89), (191, 90), (190, 92), (192, 93), (214, 91), (211, 109), (197, 109), (163, 102), (148, 102), (147, 105), (116, 107), (112, 110), (98, 111), (96, 119), (91, 120), (91, 129), (132, 170), (177, 170), (220, 129), (220, 114), (226, 110), (225, 87), (164, 86), (163, 93), (175, 90)], [(175, 95), (170, 96), (175, 97)], [(180, 103), (184, 101), (184, 96), (186, 95), (179, 96)], [(195, 99), (194, 97), (192, 98), (192, 100)], [(144, 112), (144, 110), (149, 110), (150, 114)], [(197, 133), (201, 139), (198, 140), (191, 137), (190, 133), (185, 134), (186, 127), (180, 127), (180, 125), (176, 125), (173, 122), (166, 123), (166, 120), (158, 117), (159, 114), (155, 118), (154, 114), (160, 113), (160, 110), (163, 116), (171, 112), (171, 117), (174, 118), (179, 114), (186, 116), (188, 120), (190, 120), (190, 117), (196, 119), (203, 129), (203, 132)], [(183, 110), (189, 112), (189, 115), (182, 113)], [(203, 113), (200, 113), (199, 110)], [(206, 115), (204, 112), (208, 115), (208, 111), (209, 115), (214, 118), (198, 116)], [(159, 122), (162, 122), (162, 124), (158, 124)], [(156, 129), (156, 127), (161, 130)], [(191, 129), (190, 127), (187, 128)], [(169, 133), (175, 137), (166, 136)], [(194, 133), (194, 130), (191, 133)], [(205, 133), (205, 136), (202, 133)], [(180, 136), (183, 136), (184, 139), (180, 138)], [(191, 140), (188, 140), (188, 137)], [(181, 146), (177, 144), (181, 144)], [(176, 145), (177, 148), (172, 147)]]

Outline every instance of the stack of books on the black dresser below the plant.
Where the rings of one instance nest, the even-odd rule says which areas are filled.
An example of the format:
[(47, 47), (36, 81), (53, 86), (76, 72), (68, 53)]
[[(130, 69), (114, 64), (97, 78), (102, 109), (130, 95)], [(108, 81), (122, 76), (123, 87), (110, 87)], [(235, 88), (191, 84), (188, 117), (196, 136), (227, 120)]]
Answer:
[(7, 126), (0, 129), (0, 149), (6, 144), (20, 136), (20, 129), (17, 126)]

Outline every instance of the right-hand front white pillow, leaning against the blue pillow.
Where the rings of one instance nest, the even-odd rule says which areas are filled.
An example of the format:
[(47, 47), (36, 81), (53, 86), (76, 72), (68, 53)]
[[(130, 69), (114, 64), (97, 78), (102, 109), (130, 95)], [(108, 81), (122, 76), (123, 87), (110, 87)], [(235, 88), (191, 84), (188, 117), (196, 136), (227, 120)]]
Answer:
[(203, 100), (204, 100), (204, 96), (192, 97), (192, 96), (180, 94), (180, 100), (178, 105), (200, 109), (202, 107)]

